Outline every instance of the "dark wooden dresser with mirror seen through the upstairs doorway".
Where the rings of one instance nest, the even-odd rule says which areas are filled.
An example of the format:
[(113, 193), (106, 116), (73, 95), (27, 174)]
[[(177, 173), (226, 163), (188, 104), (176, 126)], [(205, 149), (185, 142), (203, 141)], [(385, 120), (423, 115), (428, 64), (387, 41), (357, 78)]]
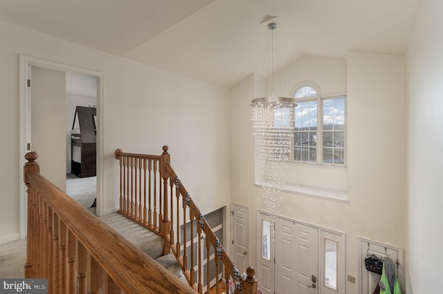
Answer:
[[(80, 133), (71, 132), (71, 173), (78, 177), (93, 177), (96, 175), (97, 140), (95, 107), (77, 106), (75, 108), (72, 129), (75, 119), (78, 119)], [(80, 150), (76, 150), (79, 148)], [(80, 152), (80, 162), (75, 161), (73, 153)]]

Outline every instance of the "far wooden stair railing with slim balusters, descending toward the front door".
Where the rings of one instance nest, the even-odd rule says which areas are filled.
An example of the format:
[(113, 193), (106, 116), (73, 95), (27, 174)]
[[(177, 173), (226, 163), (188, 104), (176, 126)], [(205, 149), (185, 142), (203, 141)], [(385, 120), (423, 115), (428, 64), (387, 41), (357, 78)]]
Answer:
[[(236, 293), (257, 293), (253, 268), (248, 268), (243, 281), (170, 165), (168, 146), (163, 146), (161, 155), (123, 153), (117, 149), (116, 158), (120, 160), (119, 212), (163, 237), (164, 254), (174, 253), (190, 286), (199, 293), (214, 286), (215, 293), (221, 293), (219, 277), (224, 271), (226, 289), (232, 277)], [(206, 241), (200, 242), (201, 239)], [(208, 259), (213, 259), (213, 264)]]

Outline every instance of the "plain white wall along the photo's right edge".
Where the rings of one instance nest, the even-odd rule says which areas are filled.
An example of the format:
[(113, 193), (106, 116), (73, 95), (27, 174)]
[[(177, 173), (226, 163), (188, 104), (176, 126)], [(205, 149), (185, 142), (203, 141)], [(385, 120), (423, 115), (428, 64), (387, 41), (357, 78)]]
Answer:
[(441, 293), (443, 2), (419, 2), (406, 54), (408, 294)]

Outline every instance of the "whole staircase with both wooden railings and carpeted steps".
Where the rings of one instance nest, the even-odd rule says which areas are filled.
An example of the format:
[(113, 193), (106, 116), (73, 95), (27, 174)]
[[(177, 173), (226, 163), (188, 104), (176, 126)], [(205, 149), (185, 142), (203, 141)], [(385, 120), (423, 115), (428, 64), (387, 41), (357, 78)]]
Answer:
[(39, 173), (37, 153), (26, 154), (26, 278), (48, 279), (48, 293), (221, 293), (222, 278), (228, 293), (260, 293), (253, 268), (242, 280), (167, 146), (160, 156), (116, 157), (120, 210), (99, 218)]

